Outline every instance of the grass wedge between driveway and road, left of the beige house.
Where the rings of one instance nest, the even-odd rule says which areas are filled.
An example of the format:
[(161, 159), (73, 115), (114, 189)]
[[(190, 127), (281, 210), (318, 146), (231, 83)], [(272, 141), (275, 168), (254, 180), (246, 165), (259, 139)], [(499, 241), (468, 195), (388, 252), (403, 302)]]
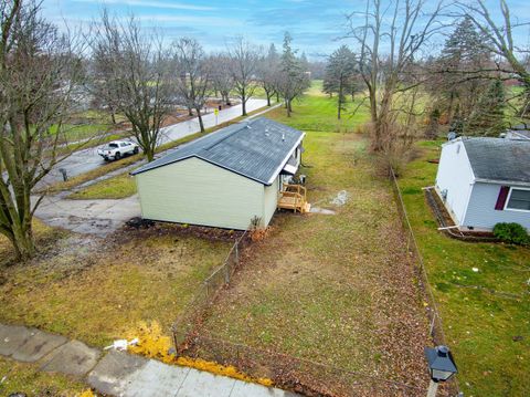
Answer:
[(73, 192), (67, 198), (74, 200), (120, 199), (135, 194), (135, 177), (130, 176), (129, 173), (124, 173)]

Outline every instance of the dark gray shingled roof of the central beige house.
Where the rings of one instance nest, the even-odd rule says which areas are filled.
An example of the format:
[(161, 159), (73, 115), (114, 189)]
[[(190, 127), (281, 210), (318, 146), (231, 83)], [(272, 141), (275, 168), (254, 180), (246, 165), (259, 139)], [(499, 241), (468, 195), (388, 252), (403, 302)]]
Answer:
[(264, 185), (271, 185), (301, 143), (304, 133), (268, 118), (255, 118), (222, 128), (181, 146), (136, 169), (146, 173), (190, 157), (198, 157)]

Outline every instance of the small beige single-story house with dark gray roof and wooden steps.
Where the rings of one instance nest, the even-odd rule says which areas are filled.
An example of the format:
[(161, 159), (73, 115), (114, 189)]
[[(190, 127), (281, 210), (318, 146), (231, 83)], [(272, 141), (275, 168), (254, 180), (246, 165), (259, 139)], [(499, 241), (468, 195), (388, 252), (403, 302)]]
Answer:
[(145, 219), (266, 227), (284, 181), (298, 170), (305, 134), (267, 118), (206, 135), (131, 173)]

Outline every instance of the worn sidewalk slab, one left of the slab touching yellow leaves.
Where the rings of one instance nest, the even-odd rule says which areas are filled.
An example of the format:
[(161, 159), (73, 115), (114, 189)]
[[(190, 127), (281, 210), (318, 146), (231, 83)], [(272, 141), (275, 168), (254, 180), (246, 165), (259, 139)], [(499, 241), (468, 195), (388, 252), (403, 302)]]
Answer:
[(82, 342), (71, 341), (44, 357), (42, 370), (84, 376), (95, 367), (102, 353)]

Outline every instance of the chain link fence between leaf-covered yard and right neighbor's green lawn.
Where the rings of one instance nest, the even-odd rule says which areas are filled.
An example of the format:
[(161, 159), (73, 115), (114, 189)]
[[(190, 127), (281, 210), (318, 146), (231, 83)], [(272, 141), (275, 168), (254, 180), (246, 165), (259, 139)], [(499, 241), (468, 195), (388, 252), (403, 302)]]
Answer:
[[(423, 260), (422, 253), (417, 245), (417, 240), (414, 234), (414, 231), (406, 212), (406, 207), (403, 201), (403, 196), (401, 194), (400, 185), (398, 184), (398, 178), (395, 177), (394, 170), (390, 168), (390, 179), (392, 181), (392, 190), (395, 196), (395, 201), (398, 203), (398, 210), (400, 212), (401, 221), (403, 223), (403, 231), (406, 238), (406, 249), (414, 257), (416, 263), (416, 273), (418, 275), (420, 285), (424, 292), (424, 297), (427, 302), (426, 312), (430, 320), (430, 334), (433, 338), (435, 345), (447, 345), (444, 327), (442, 323), (442, 316), (439, 315), (436, 301), (434, 299), (433, 289), (428, 282), (427, 271), (425, 269), (425, 262)], [(449, 388), (452, 394), (457, 394), (459, 390), (458, 380), (456, 377), (453, 377), (449, 382)]]

